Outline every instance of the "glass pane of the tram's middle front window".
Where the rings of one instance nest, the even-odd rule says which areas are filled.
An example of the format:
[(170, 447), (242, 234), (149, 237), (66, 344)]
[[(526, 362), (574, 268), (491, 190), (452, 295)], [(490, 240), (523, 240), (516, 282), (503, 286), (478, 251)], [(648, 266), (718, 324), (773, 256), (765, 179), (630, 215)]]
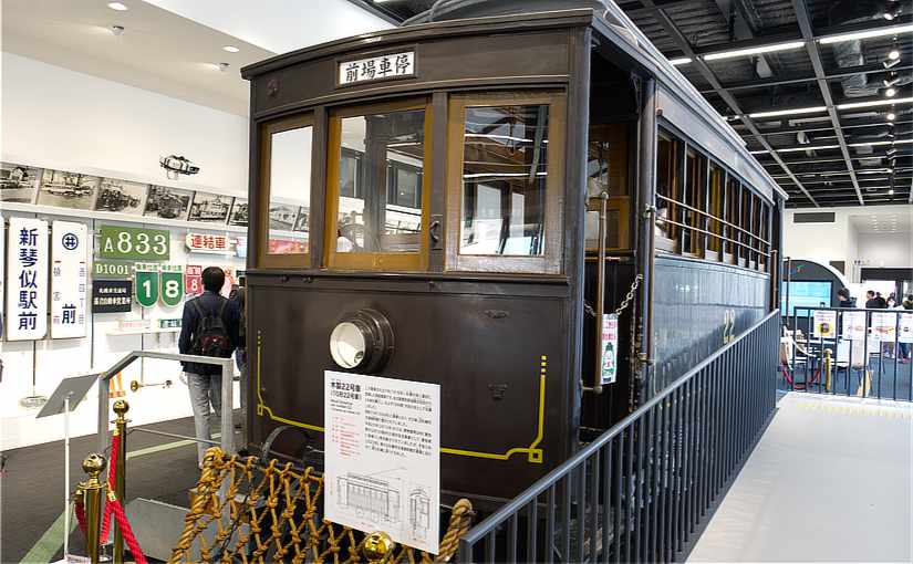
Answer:
[(418, 252), (425, 111), (343, 117), (340, 142), (335, 252)]

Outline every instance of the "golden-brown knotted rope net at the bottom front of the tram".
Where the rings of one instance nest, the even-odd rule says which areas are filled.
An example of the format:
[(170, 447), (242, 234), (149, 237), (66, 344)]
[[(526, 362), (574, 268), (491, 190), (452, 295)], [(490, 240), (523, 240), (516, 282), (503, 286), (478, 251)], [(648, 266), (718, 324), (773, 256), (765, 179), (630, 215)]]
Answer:
[(381, 533), (365, 535), (321, 519), (322, 492), (323, 477), (312, 468), (299, 472), (290, 462), (276, 460), (263, 467), (255, 457), (228, 458), (212, 447), (206, 451), (184, 531), (168, 563), (448, 562), (474, 515), (468, 500), (454, 505), (435, 556), (408, 546), (394, 547)]

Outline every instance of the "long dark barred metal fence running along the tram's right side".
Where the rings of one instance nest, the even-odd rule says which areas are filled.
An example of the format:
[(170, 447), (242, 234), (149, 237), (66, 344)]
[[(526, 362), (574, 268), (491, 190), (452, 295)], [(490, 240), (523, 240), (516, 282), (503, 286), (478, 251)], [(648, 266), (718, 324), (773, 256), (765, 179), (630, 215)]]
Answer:
[(473, 528), (461, 562), (672, 562), (776, 403), (779, 312)]

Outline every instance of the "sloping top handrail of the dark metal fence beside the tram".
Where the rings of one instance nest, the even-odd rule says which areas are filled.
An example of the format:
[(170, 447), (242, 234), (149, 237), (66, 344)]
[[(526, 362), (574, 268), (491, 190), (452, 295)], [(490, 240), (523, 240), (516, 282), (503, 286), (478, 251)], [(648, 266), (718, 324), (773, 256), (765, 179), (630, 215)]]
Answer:
[[(675, 379), (672, 384), (670, 384), (662, 393), (654, 396), (650, 399), (646, 404), (637, 408), (634, 412), (615, 424), (609, 430), (600, 435), (595, 440), (587, 445), (583, 449), (575, 452), (571, 458), (562, 462), (551, 472), (547, 473), (539, 480), (537, 480), (532, 485), (523, 490), (519, 495), (510, 500), (508, 503), (499, 508), (497, 511), (491, 513), (487, 519), (478, 523), (476, 526), (470, 529), (466, 535), (463, 537), (463, 543), (465, 545), (474, 545), (479, 542), (483, 537), (488, 535), (491, 531), (494, 531), (498, 525), (510, 519), (513, 514), (516, 514), (519, 510), (521, 510), (525, 505), (529, 504), (532, 500), (537, 499), (542, 492), (549, 489), (552, 484), (554, 484), (559, 479), (568, 476), (571, 471), (573, 471), (581, 463), (585, 462), (587, 459), (595, 455), (600, 449), (602, 449), (610, 440), (612, 440), (615, 436), (620, 432), (625, 430), (632, 422), (636, 421), (641, 417), (644, 416), (651, 408), (666, 399), (671, 394), (673, 394), (677, 388), (686, 384), (691, 380), (696, 374), (701, 373), (707, 365), (716, 361), (717, 358), (722, 357), (725, 353), (729, 349), (736, 347), (743, 340), (747, 338), (751, 335), (757, 328), (761, 327), (765, 323), (767, 323), (771, 317), (779, 315), (779, 311), (775, 310), (767, 314), (762, 320), (754, 324), (748, 331), (743, 332), (739, 336), (730, 341), (727, 345), (723, 346), (714, 354), (705, 358), (703, 362), (697, 364), (691, 370), (685, 373), (684, 375), (679, 376)], [(535, 525), (530, 525), (535, 526)]]

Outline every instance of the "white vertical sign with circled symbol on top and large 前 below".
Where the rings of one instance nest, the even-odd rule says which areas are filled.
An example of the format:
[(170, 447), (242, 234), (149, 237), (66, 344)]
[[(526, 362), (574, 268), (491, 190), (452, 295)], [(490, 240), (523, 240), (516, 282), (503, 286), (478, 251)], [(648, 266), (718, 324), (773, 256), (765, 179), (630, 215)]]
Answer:
[(85, 336), (90, 241), (85, 223), (51, 224), (51, 338)]

